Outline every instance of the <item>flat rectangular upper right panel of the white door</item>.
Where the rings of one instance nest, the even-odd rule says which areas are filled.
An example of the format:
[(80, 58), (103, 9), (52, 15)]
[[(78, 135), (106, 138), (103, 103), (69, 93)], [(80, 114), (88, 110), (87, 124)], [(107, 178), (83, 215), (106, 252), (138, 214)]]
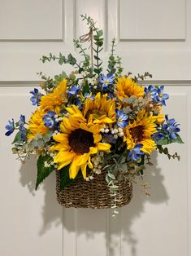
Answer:
[(185, 40), (184, 0), (120, 0), (120, 40)]

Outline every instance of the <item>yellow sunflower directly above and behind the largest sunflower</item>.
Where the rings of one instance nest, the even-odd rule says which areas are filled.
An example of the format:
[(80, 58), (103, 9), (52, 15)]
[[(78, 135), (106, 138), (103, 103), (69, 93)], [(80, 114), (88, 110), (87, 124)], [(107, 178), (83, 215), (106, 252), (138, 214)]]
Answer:
[(98, 92), (94, 99), (87, 98), (83, 108), (83, 116), (89, 123), (112, 123), (115, 121), (115, 101), (106, 99), (107, 94)]

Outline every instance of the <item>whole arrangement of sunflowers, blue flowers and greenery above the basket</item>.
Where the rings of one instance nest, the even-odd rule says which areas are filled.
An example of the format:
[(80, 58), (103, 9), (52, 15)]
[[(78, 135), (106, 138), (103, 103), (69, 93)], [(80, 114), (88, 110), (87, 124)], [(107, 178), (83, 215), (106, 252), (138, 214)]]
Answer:
[[(91, 183), (104, 171), (112, 194), (120, 180), (132, 183), (137, 176), (143, 177), (154, 150), (180, 160), (164, 145), (183, 142), (180, 125), (163, 114), (169, 98), (164, 86), (141, 86), (142, 80), (152, 77), (147, 72), (123, 73), (115, 39), (104, 71), (102, 30), (89, 16), (81, 17), (89, 33), (73, 42), (82, 60), (78, 62), (72, 54), (42, 56), (43, 63), (58, 60), (61, 65), (72, 65), (73, 71), (54, 78), (39, 73), (44, 92), (30, 91), (36, 110), (29, 121), (24, 115), (17, 122), (9, 121), (6, 135), (17, 130), (12, 151), (22, 162), (32, 154), (37, 156), (36, 189), (54, 170), (62, 175), (61, 190), (81, 176)], [(87, 43), (90, 49), (84, 47)]]

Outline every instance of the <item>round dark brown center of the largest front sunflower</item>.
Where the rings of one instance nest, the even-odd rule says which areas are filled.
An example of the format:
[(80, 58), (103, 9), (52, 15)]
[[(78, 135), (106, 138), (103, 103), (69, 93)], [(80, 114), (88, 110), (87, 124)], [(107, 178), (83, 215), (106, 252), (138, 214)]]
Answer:
[(82, 129), (73, 130), (71, 135), (69, 135), (68, 141), (72, 150), (79, 154), (88, 153), (89, 147), (94, 145), (93, 134)]

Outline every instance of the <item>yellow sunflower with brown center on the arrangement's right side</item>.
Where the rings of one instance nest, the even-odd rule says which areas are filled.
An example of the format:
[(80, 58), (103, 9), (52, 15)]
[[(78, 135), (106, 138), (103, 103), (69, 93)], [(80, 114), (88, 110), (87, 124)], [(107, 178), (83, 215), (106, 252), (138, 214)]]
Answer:
[(128, 123), (124, 129), (124, 141), (129, 150), (132, 150), (136, 144), (142, 144), (141, 151), (150, 154), (156, 148), (151, 138), (151, 135), (157, 132), (155, 121), (156, 117), (142, 111), (137, 115), (137, 120)]

